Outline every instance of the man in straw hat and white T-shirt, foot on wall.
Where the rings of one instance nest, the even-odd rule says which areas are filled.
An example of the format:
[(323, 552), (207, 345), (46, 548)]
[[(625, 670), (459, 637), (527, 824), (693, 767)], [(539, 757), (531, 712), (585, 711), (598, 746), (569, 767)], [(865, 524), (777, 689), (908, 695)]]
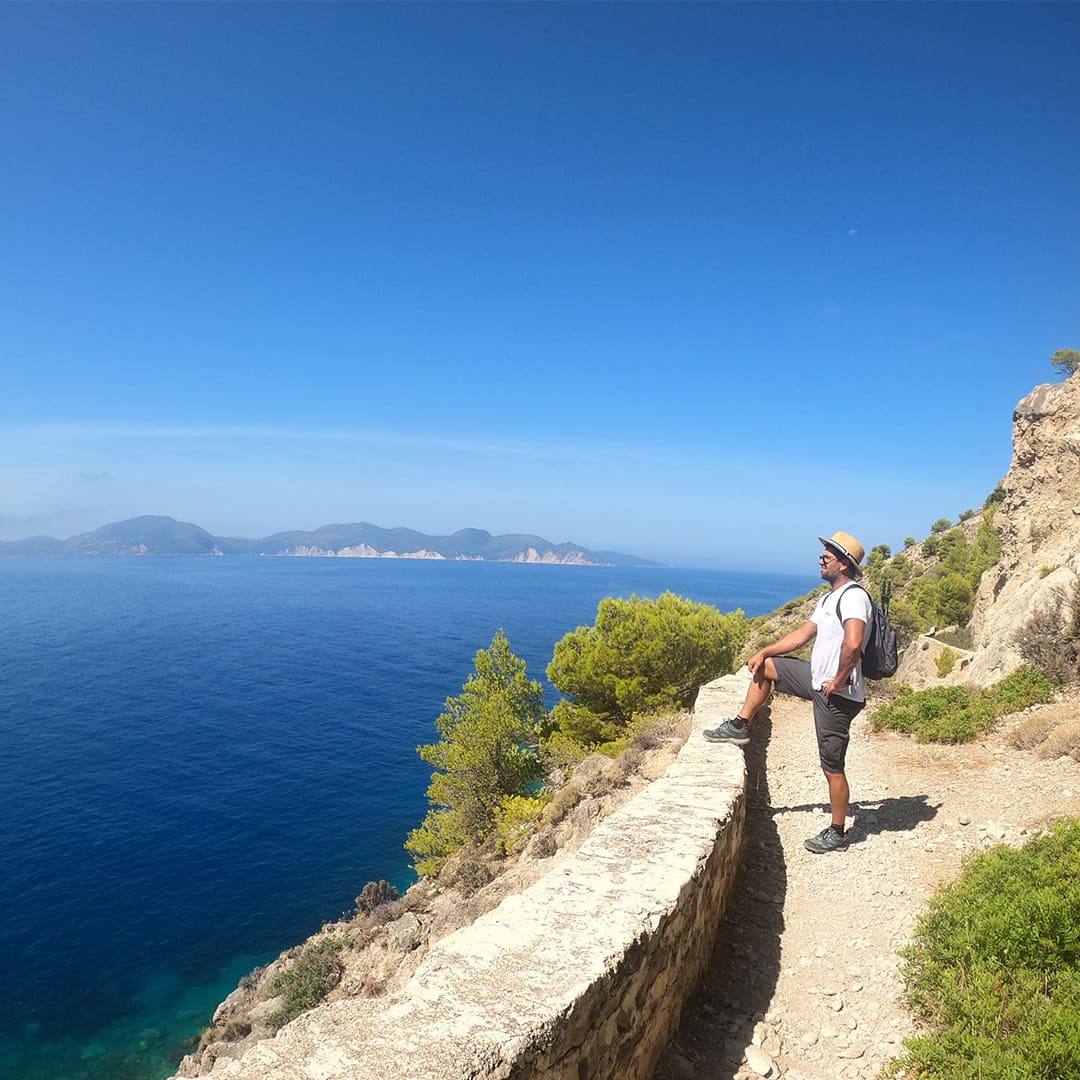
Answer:
[[(845, 821), (850, 791), (843, 771), (851, 721), (862, 710), (862, 650), (873, 619), (870, 598), (865, 589), (850, 588), (862, 577), (859, 564), (863, 545), (848, 532), (834, 532), (827, 540), (818, 538), (824, 552), (818, 559), (821, 576), (832, 589), (818, 602), (810, 619), (772, 645), (755, 652), (746, 666), (753, 678), (738, 714), (718, 728), (705, 731), (710, 742), (750, 742), (750, 723), (769, 700), (773, 688), (813, 702), (818, 753), (828, 784), (832, 822), (806, 841), (808, 851), (824, 854), (838, 851), (848, 840)], [(784, 653), (802, 648), (813, 638), (810, 660), (797, 660)]]

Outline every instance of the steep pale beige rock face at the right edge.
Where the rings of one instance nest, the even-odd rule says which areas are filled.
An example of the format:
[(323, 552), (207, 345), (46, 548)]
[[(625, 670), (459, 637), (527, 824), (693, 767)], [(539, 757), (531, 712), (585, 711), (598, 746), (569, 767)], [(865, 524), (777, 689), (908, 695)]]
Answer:
[(1080, 575), (1080, 375), (1036, 387), (1016, 406), (1001, 486), (1001, 561), (980, 582), (964, 673), (983, 686), (1021, 664), (1016, 631)]

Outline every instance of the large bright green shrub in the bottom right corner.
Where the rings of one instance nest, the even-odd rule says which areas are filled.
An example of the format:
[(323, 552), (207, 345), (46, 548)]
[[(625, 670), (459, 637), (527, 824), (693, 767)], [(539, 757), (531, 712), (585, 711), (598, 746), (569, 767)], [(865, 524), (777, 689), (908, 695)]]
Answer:
[(970, 861), (931, 897), (904, 950), (908, 1002), (930, 1031), (893, 1075), (1080, 1076), (1080, 821)]

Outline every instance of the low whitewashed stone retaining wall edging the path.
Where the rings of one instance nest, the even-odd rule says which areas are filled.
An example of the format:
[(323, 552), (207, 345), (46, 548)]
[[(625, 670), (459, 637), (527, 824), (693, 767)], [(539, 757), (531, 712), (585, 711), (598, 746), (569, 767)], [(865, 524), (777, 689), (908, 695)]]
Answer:
[(575, 856), (436, 942), (384, 998), (321, 1005), (221, 1058), (230, 1080), (647, 1080), (708, 962), (739, 863), (743, 755), (701, 730), (745, 676), (703, 687), (663, 777)]

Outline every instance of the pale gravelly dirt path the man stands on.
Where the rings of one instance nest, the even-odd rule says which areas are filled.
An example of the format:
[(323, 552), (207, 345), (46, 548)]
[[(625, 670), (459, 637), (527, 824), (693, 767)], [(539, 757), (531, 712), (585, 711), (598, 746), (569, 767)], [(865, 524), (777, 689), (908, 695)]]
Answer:
[(969, 852), (1080, 815), (1080, 765), (1014, 750), (1016, 723), (976, 745), (934, 746), (872, 734), (860, 717), (851, 842), (814, 855), (802, 841), (828, 818), (810, 706), (777, 698), (745, 751), (747, 836), (731, 906), (654, 1080), (877, 1077), (912, 1031), (896, 954), (934, 887)]

